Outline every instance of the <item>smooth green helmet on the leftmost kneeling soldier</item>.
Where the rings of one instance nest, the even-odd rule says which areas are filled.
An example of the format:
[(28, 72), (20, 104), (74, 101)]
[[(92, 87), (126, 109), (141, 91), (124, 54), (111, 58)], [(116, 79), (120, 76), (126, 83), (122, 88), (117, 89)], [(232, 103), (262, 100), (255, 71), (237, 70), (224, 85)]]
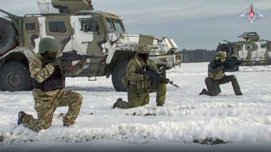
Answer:
[(44, 37), (41, 39), (39, 44), (39, 53), (43, 54), (47, 51), (56, 52), (57, 51), (57, 42), (54, 37)]

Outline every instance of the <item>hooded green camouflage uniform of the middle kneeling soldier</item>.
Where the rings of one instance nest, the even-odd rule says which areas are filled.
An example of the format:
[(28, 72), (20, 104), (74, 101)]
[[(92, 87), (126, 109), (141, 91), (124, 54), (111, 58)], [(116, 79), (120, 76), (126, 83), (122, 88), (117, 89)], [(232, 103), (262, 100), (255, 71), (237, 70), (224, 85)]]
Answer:
[(165, 104), (167, 85), (161, 83), (156, 86), (153, 86), (152, 79), (150, 77), (136, 73), (138, 69), (142, 69), (143, 67), (147, 66), (150, 69), (158, 72), (156, 64), (151, 60), (147, 60), (146, 62), (139, 56), (136, 56), (133, 59), (131, 59), (126, 69), (126, 78), (128, 80), (128, 89), (127, 89), (128, 102), (125, 101), (116, 102), (115, 103), (116, 107), (127, 109), (138, 106), (144, 106), (146, 104), (149, 104), (150, 101), (149, 93), (154, 92), (156, 92), (157, 105)]

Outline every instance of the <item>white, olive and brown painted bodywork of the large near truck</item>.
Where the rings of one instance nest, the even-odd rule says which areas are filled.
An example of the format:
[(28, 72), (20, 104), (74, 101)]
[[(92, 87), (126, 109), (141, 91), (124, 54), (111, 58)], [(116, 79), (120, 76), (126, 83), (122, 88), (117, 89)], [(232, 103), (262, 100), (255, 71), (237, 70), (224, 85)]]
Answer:
[[(31, 51), (37, 53), (39, 41), (43, 37), (52, 36), (59, 44), (58, 55), (61, 55), (62, 52), (75, 50), (80, 55), (90, 55), (95, 57), (88, 61), (87, 65), (84, 67), (84, 72), (79, 76), (109, 77), (117, 63), (123, 60), (130, 60), (134, 56), (134, 52), (137, 51), (137, 47), (140, 44), (153, 46), (154, 49), (151, 51), (151, 59), (156, 64), (165, 65), (168, 69), (171, 69), (175, 66), (175, 63), (181, 63), (180, 57), (177, 58), (177, 55), (169, 54), (169, 52), (174, 52), (178, 49), (178, 46), (173, 39), (127, 34), (122, 25), (122, 17), (103, 11), (90, 11), (93, 9), (91, 1), (39, 0), (38, 5), (41, 12), (40, 16), (27, 15), (26, 17), (20, 17), (23, 21), (21, 25), (23, 29), (23, 38), (21, 38), (22, 41), (20, 42), (20, 46), (16, 49), (19, 47), (25, 48), (26, 51), (23, 54), (28, 54), (28, 52)], [(54, 8), (56, 6), (61, 7), (56, 9)], [(59, 14), (61, 12), (61, 8), (63, 12), (68, 14)], [(77, 13), (75, 14), (75, 12)], [(97, 19), (99, 30), (97, 32), (84, 32), (80, 19), (91, 17)], [(117, 32), (119, 37), (116, 42), (111, 42), (108, 39), (108, 34), (111, 31), (108, 28), (107, 19), (121, 23), (124, 29), (124, 32)], [(53, 27), (56, 29), (64, 28), (64, 22), (66, 31), (64, 33), (51, 32), (49, 25), (50, 22), (62, 22), (61, 26)], [(35, 24), (36, 30), (27, 31), (25, 28), (27, 23)], [(112, 31), (116, 31), (116, 29)], [(78, 40), (78, 38), (80, 38), (80, 40)], [(7, 54), (10, 53), (8, 52)], [(27, 59), (29, 60), (29, 57), (27, 57)]]

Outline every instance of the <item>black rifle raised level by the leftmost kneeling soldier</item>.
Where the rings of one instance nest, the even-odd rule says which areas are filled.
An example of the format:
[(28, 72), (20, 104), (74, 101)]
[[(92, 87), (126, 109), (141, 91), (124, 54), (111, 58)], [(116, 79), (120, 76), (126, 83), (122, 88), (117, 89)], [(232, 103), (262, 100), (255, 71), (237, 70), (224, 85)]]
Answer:
[[(57, 59), (60, 59), (62, 61), (65, 69), (70, 69), (72, 68), (72, 61), (79, 61), (81, 59), (89, 59), (89, 58), (93, 58), (93, 56), (80, 55), (80, 54), (77, 54), (77, 51), (70, 51), (70, 52), (63, 52), (62, 56)], [(45, 60), (44, 62), (52, 63), (57, 59)]]

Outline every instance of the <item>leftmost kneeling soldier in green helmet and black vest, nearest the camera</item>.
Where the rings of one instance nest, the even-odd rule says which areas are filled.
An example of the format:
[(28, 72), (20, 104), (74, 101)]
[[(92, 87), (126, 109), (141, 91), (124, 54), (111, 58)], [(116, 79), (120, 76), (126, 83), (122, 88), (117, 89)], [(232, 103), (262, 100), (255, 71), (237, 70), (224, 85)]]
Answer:
[[(69, 106), (67, 114), (63, 118), (63, 125), (69, 126), (75, 123), (79, 115), (83, 97), (73, 91), (64, 90), (65, 76), (63, 73), (79, 74), (83, 70), (86, 59), (82, 59), (71, 69), (66, 70), (57, 57), (57, 43), (53, 37), (45, 37), (40, 41), (39, 53), (29, 64), (31, 77), (34, 79), (33, 97), (38, 118), (24, 111), (19, 112), (18, 125), (24, 124), (34, 131), (47, 129), (52, 124), (53, 114), (57, 107)], [(52, 60), (52, 63), (45, 63)]]

